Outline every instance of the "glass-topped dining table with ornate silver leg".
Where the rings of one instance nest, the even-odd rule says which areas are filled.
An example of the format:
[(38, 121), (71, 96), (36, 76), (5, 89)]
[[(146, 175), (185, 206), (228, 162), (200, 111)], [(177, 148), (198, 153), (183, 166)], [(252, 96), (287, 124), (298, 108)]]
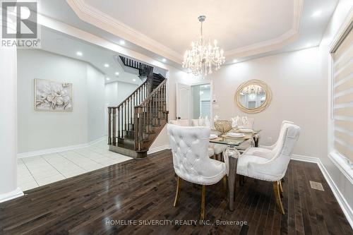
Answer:
[[(229, 199), (229, 210), (234, 210), (234, 197), (235, 191), (237, 190), (236, 176), (237, 176), (237, 163), (238, 157), (241, 155), (241, 144), (246, 141), (250, 141), (251, 147), (258, 147), (259, 133), (261, 130), (253, 130), (251, 132), (244, 133), (243, 137), (234, 138), (229, 137), (227, 133), (220, 133), (217, 130), (212, 130), (211, 133), (217, 137), (210, 138), (210, 143), (218, 145), (227, 145), (227, 149), (223, 152), (224, 161), (228, 162), (228, 199)], [(239, 129), (233, 129), (233, 133), (241, 133)]]

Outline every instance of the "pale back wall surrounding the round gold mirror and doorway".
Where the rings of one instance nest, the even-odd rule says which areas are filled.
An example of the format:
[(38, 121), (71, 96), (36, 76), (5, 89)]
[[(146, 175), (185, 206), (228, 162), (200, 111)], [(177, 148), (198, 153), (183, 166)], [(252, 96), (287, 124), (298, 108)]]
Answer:
[[(270, 106), (258, 114), (245, 114), (234, 102), (234, 93), (239, 85), (251, 79), (263, 80), (273, 91)], [(169, 73), (168, 83), (170, 120), (175, 119), (175, 83), (192, 85), (208, 80), (213, 80), (213, 95), (217, 99), (217, 106), (213, 106), (213, 116), (218, 115), (221, 119), (237, 115), (254, 118), (255, 128), (262, 129), (263, 145), (275, 143), (283, 120), (294, 121), (301, 126), (294, 154), (319, 157), (320, 149), (325, 147), (321, 142), (321, 135), (324, 134), (321, 120), (324, 115), (325, 81), (320, 76), (318, 47), (222, 66), (222, 69), (201, 80), (192, 74), (173, 71)], [(167, 138), (157, 140), (152, 147), (168, 145)]]

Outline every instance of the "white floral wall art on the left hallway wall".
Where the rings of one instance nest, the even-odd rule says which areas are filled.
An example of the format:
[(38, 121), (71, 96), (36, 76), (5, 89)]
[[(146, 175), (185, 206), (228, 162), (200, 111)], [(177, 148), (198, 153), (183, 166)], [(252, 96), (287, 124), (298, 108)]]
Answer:
[(72, 83), (35, 79), (35, 110), (72, 111)]

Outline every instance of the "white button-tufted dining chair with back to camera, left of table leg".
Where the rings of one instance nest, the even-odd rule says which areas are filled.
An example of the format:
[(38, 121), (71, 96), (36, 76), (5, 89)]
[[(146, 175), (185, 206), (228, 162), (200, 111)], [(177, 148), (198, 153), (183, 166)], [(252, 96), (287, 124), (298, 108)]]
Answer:
[(205, 186), (219, 182), (227, 174), (224, 162), (208, 157), (210, 128), (168, 124), (174, 171), (178, 176), (174, 206), (179, 198), (181, 179), (202, 185), (201, 219), (205, 218)]

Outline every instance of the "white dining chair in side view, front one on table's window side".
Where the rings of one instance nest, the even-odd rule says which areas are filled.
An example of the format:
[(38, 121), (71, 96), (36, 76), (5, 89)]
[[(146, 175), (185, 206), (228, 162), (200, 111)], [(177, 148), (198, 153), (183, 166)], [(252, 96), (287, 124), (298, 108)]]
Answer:
[(272, 181), (273, 190), (280, 212), (285, 214), (280, 195), (282, 195), (281, 179), (285, 176), (294, 145), (299, 138), (300, 128), (292, 123), (284, 123), (280, 138), (270, 152), (264, 156), (251, 155), (246, 150), (237, 163), (237, 174), (263, 181)]

